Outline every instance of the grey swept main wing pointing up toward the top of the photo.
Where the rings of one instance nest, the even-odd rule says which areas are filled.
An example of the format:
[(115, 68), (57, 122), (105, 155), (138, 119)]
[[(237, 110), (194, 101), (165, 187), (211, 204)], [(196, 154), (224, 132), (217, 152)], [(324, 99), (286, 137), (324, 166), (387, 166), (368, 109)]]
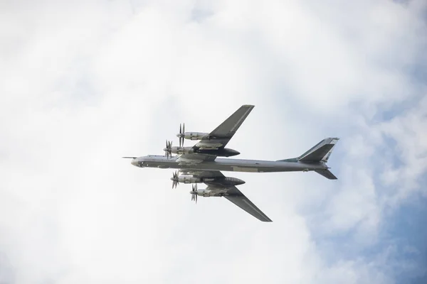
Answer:
[(244, 104), (238, 110), (234, 111), (234, 113), (214, 129), (214, 131), (202, 138), (195, 146), (201, 149), (218, 149), (225, 147), (254, 107), (255, 106), (249, 104)]

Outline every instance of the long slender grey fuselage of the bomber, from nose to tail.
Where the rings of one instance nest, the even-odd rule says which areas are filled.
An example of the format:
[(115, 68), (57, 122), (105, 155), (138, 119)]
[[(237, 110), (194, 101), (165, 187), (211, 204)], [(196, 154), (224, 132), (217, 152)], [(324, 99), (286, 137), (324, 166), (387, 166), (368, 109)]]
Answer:
[(223, 170), (231, 172), (274, 173), (309, 170), (325, 170), (325, 163), (301, 163), (274, 160), (243, 160), (216, 158), (214, 161), (184, 162), (179, 157), (167, 158), (163, 155), (147, 155), (132, 160), (139, 168), (172, 168), (181, 170)]

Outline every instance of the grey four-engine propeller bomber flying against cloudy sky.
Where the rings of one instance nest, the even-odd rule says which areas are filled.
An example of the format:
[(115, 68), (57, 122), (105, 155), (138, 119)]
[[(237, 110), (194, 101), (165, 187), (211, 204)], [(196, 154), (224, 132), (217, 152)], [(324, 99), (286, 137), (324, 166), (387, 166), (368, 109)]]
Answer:
[[(177, 169), (172, 174), (172, 188), (179, 185), (179, 182), (195, 184), (190, 191), (191, 200), (195, 202), (198, 196), (225, 197), (260, 221), (272, 222), (236, 187), (245, 182), (226, 177), (221, 170), (246, 173), (314, 171), (330, 180), (337, 180), (326, 163), (339, 138), (325, 138), (297, 158), (285, 160), (217, 158), (240, 154), (225, 147), (254, 107), (248, 104), (241, 106), (210, 133), (185, 132), (185, 124), (182, 127), (180, 124), (179, 133), (176, 134), (179, 146), (172, 146), (171, 141), (166, 141), (164, 155), (123, 158), (132, 158), (132, 165), (139, 168)], [(184, 139), (199, 142), (194, 146), (184, 147)], [(172, 157), (172, 153), (176, 155)], [(197, 183), (206, 184), (206, 189), (197, 189)]]

